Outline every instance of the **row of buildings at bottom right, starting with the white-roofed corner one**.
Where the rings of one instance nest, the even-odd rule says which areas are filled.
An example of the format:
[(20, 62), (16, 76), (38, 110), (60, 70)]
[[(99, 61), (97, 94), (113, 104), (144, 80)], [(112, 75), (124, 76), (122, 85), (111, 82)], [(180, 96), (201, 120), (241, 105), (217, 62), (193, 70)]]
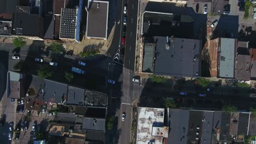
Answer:
[(139, 107), (137, 143), (243, 143), (255, 121), (250, 112)]

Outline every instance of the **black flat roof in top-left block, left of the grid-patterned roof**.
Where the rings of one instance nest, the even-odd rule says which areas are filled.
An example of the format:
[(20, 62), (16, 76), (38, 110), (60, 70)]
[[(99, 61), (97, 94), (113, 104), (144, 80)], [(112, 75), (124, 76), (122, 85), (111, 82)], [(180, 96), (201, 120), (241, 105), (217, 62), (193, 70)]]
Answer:
[[(35, 25), (37, 23), (37, 25)], [(27, 13), (16, 13), (13, 19), (13, 34), (43, 37), (43, 17)]]

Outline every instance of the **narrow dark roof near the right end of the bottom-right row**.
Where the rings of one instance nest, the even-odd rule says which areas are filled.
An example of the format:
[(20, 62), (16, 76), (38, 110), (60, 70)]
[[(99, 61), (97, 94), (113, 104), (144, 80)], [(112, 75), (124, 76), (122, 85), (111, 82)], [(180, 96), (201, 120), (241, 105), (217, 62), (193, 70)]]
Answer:
[(249, 113), (240, 113), (237, 135), (248, 135)]

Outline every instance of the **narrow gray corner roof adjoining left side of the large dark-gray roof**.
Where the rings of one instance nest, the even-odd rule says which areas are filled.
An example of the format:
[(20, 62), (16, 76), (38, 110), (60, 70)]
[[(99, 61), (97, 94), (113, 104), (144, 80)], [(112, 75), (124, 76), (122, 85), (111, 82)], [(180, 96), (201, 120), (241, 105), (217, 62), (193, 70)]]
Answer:
[(146, 73), (153, 73), (154, 71), (154, 57), (155, 57), (155, 44), (144, 43), (143, 64), (142, 71)]

